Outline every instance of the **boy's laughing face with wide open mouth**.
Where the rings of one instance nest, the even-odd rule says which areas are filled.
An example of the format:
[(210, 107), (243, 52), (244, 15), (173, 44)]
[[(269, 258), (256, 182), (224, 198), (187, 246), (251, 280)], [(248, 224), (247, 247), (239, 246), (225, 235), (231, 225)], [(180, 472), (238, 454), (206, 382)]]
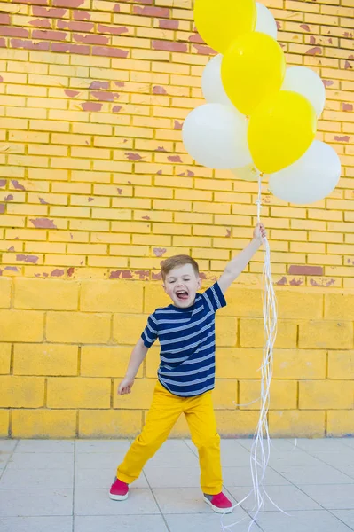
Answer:
[(201, 288), (201, 278), (195, 275), (192, 264), (170, 270), (163, 284), (173, 304), (180, 309), (191, 307)]

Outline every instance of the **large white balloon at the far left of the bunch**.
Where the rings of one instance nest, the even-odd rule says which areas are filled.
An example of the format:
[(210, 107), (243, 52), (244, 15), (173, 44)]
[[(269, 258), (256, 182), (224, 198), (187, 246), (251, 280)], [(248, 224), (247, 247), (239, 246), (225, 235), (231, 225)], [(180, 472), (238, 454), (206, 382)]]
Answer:
[(182, 135), (186, 151), (208, 168), (244, 166), (251, 157), (245, 117), (221, 104), (193, 109), (185, 119)]

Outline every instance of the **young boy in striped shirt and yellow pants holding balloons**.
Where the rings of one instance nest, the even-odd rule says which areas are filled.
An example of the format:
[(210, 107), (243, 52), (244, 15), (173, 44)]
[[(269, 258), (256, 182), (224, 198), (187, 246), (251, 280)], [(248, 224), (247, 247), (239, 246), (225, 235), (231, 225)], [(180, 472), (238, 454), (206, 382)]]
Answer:
[(204, 500), (215, 512), (232, 512), (232, 502), (222, 492), (220, 436), (211, 398), (215, 387), (215, 314), (226, 305), (224, 293), (245, 269), (264, 237), (264, 226), (259, 223), (248, 246), (202, 294), (197, 293), (201, 278), (192, 257), (177, 255), (163, 262), (163, 288), (172, 304), (156, 309), (148, 317), (118, 395), (130, 394), (138, 368), (157, 338), (161, 344), (158, 382), (143, 432), (117, 469), (109, 493), (111, 499), (122, 501), (128, 497), (129, 484), (138, 479), (147, 460), (165, 442), (183, 412), (199, 451)]

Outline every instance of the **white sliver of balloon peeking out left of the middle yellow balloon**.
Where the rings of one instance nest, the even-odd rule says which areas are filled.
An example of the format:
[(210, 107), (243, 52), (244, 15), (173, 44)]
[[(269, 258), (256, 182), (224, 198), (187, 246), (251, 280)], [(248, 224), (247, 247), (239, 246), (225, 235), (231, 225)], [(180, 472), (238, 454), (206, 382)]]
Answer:
[(227, 96), (221, 81), (222, 60), (223, 56), (219, 54), (208, 62), (201, 76), (201, 90), (208, 104), (224, 104), (224, 106), (232, 106), (236, 109)]

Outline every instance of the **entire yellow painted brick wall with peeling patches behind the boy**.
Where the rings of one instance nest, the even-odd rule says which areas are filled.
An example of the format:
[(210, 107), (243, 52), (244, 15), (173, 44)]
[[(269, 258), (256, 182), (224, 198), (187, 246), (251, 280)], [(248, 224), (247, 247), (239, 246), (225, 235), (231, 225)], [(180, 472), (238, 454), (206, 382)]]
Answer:
[[(354, 423), (354, 6), (264, 0), (288, 65), (324, 79), (319, 139), (342, 159), (310, 207), (264, 191), (279, 299), (271, 434)], [(124, 437), (144, 423), (158, 365), (117, 398), (161, 261), (192, 254), (209, 286), (256, 223), (256, 184), (196, 166), (181, 127), (213, 55), (192, 0), (0, 1), (0, 435)], [(263, 255), (217, 319), (216, 415), (252, 434), (263, 345)], [(181, 419), (174, 435), (186, 434)]]

